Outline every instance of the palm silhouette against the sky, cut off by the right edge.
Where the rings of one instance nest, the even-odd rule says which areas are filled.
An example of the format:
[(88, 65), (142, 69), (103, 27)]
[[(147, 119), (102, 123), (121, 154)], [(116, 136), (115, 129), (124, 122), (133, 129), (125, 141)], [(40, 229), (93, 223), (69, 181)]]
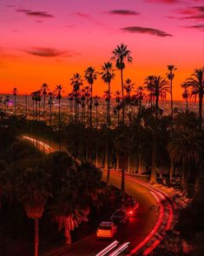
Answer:
[(194, 70), (192, 77), (189, 77), (186, 81), (188, 87), (190, 87), (190, 97), (196, 101), (199, 98), (199, 119), (200, 119), (200, 130), (202, 128), (202, 104), (204, 96), (204, 67), (202, 69)]

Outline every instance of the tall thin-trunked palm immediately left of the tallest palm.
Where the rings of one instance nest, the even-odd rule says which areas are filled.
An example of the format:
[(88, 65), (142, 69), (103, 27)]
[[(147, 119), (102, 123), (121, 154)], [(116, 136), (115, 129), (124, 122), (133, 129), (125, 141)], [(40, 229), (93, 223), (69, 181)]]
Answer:
[(113, 64), (110, 62), (104, 63), (101, 68), (100, 75), (102, 76), (102, 81), (108, 84), (107, 91), (107, 136), (106, 136), (106, 164), (107, 164), (107, 183), (109, 182), (109, 161), (110, 161), (110, 150), (109, 150), (109, 128), (110, 128), (110, 84), (115, 77), (115, 70), (113, 69)]

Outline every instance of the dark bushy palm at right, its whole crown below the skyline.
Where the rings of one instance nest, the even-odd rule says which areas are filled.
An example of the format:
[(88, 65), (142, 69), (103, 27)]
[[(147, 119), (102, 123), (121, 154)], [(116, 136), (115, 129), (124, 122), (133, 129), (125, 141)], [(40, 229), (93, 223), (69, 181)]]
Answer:
[(202, 141), (199, 133), (174, 132), (167, 145), (170, 158), (182, 165), (182, 186), (188, 193), (188, 166), (201, 161)]

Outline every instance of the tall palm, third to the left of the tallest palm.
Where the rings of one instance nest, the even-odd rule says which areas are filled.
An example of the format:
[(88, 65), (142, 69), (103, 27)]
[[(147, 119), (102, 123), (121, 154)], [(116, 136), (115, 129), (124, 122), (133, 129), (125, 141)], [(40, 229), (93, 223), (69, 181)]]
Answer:
[(75, 73), (73, 77), (70, 78), (71, 85), (73, 86), (73, 96), (75, 98), (75, 118), (78, 121), (79, 118), (79, 105), (78, 105), (78, 98), (79, 98), (79, 91), (80, 87), (82, 86), (82, 76), (79, 73)]

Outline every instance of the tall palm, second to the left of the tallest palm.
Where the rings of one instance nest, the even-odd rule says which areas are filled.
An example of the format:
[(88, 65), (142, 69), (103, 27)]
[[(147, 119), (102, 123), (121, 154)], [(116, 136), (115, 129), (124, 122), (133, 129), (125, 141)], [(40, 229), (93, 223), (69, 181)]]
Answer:
[(94, 81), (97, 78), (97, 72), (95, 71), (95, 68), (93, 68), (92, 66), (87, 68), (87, 70), (85, 71), (84, 78), (90, 85), (90, 104), (89, 104), (89, 109), (90, 109), (89, 121), (90, 121), (90, 124), (89, 125), (90, 125), (90, 128), (92, 128), (93, 84), (94, 84)]

